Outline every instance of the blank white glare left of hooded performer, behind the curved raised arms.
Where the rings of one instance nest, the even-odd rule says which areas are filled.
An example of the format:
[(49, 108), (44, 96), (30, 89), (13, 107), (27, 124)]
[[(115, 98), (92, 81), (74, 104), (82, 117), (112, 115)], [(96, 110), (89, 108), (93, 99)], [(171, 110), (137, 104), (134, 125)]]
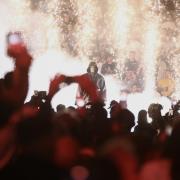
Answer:
[[(33, 91), (48, 90), (50, 80), (56, 74), (79, 75), (85, 73), (87, 64), (76, 59), (71, 59), (63, 53), (48, 51), (33, 63), (30, 73), (30, 88), (27, 100), (30, 99)], [(66, 106), (75, 105), (77, 85), (67, 86), (60, 90), (53, 98), (52, 105), (55, 108), (58, 104)]]

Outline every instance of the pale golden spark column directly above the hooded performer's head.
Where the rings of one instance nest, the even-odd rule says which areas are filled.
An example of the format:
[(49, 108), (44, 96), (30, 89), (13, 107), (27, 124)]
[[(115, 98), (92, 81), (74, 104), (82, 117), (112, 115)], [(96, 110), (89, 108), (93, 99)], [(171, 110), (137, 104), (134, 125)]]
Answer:
[(78, 41), (79, 56), (88, 57), (92, 54), (93, 40), (96, 34), (96, 21), (99, 9), (96, 1), (77, 0), (78, 23), (75, 36)]

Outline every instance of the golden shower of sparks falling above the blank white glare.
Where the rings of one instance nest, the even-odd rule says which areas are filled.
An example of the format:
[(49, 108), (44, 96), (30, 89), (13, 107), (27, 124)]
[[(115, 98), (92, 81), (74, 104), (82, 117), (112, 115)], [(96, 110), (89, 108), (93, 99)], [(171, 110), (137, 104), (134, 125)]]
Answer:
[[(30, 6), (32, 2), (36, 2), (36, 8)], [(163, 49), (171, 55), (169, 66), (177, 84), (173, 95), (180, 98), (178, 2), (167, 5), (160, 0), (4, 0), (3, 4), (8, 12), (4, 16), (5, 9), (1, 11), (7, 21), (2, 24), (1, 36), (10, 30), (21, 30), (35, 57), (63, 51), (76, 59), (98, 59), (102, 65), (108, 52), (114, 55), (122, 80), (126, 56), (135, 51), (144, 62), (145, 93), (149, 97), (155, 96), (157, 59)], [(111, 98), (115, 97), (108, 97), (109, 101)]]

